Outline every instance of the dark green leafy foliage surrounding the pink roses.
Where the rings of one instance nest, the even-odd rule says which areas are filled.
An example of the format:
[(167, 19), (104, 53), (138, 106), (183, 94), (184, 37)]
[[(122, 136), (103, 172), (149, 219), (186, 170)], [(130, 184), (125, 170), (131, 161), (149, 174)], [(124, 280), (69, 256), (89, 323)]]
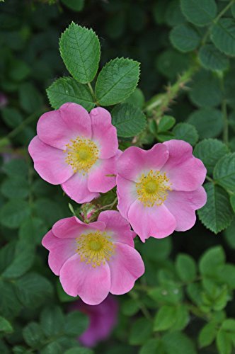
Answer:
[[(117, 297), (117, 327), (93, 352), (235, 352), (234, 17), (227, 0), (0, 4), (0, 91), (8, 100), (0, 110), (1, 353), (92, 353), (76, 341), (87, 316), (67, 314), (74, 298), (40, 245), (52, 224), (80, 206), (42, 181), (27, 151), (39, 116), (66, 101), (111, 110), (122, 149), (185, 139), (207, 167), (208, 201), (195, 227), (135, 240), (146, 273)], [(69, 52), (69, 40), (86, 36), (91, 46)], [(81, 53), (86, 60), (77, 67)]]

